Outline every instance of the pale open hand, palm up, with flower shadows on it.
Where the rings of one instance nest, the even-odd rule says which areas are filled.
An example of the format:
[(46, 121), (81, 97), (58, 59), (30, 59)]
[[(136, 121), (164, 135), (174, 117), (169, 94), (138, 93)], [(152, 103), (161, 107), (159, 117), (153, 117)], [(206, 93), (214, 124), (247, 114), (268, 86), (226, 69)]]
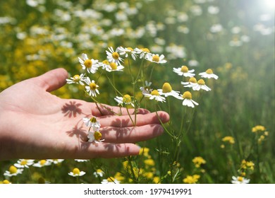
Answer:
[[(160, 123), (169, 121), (166, 112), (141, 109), (134, 126), (125, 108), (52, 95), (50, 92), (63, 86), (66, 78), (65, 69), (54, 69), (0, 93), (0, 160), (138, 155), (136, 142), (164, 132)], [(129, 112), (133, 114), (133, 110)], [(102, 125), (103, 142), (87, 141), (88, 127), (82, 118), (92, 116)], [(131, 117), (135, 120), (135, 115)]]

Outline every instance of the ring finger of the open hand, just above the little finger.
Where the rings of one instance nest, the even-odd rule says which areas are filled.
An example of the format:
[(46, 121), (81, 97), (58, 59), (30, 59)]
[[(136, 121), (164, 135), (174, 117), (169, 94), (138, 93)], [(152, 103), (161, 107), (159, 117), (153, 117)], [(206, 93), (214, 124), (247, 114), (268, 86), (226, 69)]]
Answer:
[(159, 136), (164, 129), (160, 124), (148, 124), (141, 127), (103, 127), (100, 132), (104, 142), (135, 143)]

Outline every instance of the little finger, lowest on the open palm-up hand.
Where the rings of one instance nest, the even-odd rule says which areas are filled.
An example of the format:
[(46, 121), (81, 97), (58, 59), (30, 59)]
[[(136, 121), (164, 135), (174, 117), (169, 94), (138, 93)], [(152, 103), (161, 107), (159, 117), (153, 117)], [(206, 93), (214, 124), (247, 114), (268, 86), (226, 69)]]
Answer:
[(121, 158), (125, 156), (137, 156), (140, 146), (135, 144), (111, 144), (82, 142), (81, 149), (75, 152), (73, 158)]

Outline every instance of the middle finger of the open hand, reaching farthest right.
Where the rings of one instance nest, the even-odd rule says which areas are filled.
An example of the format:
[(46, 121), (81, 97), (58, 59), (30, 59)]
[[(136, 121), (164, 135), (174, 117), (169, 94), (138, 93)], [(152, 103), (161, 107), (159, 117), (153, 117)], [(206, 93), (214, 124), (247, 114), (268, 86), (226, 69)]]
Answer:
[(146, 124), (161, 124), (169, 121), (166, 112), (151, 112), (145, 115), (107, 115), (97, 119), (102, 127), (133, 127)]

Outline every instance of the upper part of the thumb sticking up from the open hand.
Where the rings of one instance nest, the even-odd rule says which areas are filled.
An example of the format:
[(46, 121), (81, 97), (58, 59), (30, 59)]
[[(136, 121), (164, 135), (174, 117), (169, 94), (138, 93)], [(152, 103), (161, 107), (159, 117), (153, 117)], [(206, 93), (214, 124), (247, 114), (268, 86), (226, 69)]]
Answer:
[(37, 76), (33, 80), (45, 91), (51, 92), (66, 84), (66, 78), (68, 78), (68, 72), (63, 68), (59, 68)]

